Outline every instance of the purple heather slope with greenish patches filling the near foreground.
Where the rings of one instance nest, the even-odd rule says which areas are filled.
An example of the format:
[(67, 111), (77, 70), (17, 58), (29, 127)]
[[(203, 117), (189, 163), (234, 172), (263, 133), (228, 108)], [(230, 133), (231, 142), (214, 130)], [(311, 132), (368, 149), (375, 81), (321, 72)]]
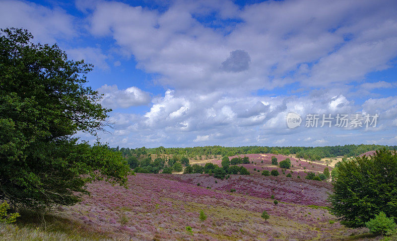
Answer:
[[(104, 181), (88, 189), (90, 196), (57, 209), (55, 216), (117, 240), (352, 240), (368, 232), (335, 221), (325, 208), (331, 192), (327, 182), (137, 173), (129, 177), (128, 189)], [(200, 210), (207, 215), (203, 222)], [(266, 222), (263, 211), (270, 215)]]

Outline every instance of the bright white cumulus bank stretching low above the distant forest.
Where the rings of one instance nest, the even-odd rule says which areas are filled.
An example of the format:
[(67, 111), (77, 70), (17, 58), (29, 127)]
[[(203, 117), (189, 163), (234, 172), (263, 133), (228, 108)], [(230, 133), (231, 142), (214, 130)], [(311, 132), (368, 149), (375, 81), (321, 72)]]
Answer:
[[(121, 130), (120, 133), (134, 137), (129, 139), (131, 146), (284, 146), (302, 145), (302, 141), (313, 146), (344, 145), (349, 135), (349, 143), (363, 143), (363, 135), (368, 130), (333, 125), (321, 127), (321, 120), (317, 128), (308, 128), (305, 127), (306, 115), (320, 114), (321, 118), (322, 114), (328, 116), (330, 113), (333, 117), (336, 113), (355, 114), (360, 110), (362, 112), (359, 113), (364, 113), (370, 111), (370, 104), (375, 102), (384, 106), (377, 112), (381, 117), (396, 109), (395, 97), (368, 100), (363, 105), (356, 105), (344, 95), (324, 92), (321, 95), (324, 101), (317, 101), (319, 95), (316, 92), (304, 97), (224, 97), (221, 94), (167, 90), (163, 97), (152, 100), (153, 105), (144, 116), (124, 117), (124, 114), (117, 114), (112, 121), (117, 123), (116, 129)], [(288, 129), (285, 118), (289, 112), (302, 117), (300, 127)], [(380, 118), (376, 131), (387, 131), (392, 125), (395, 126), (394, 122), (393, 119)], [(112, 136), (104, 140), (116, 143), (116, 140), (121, 142), (122, 137)]]

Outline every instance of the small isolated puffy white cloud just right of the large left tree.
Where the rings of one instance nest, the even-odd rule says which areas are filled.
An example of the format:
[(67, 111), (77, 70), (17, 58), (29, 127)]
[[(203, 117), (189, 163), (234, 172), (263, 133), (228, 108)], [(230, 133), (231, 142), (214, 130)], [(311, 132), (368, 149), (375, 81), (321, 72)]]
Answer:
[(103, 85), (97, 89), (99, 94), (104, 94), (101, 104), (109, 108), (128, 108), (131, 106), (145, 105), (150, 102), (150, 94), (135, 87), (119, 89), (116, 84)]

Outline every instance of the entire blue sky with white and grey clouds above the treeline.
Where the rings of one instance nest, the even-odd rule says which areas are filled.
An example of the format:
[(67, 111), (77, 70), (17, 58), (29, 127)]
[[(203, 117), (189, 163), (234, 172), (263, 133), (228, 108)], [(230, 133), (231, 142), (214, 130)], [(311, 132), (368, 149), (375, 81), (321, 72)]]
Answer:
[[(95, 66), (110, 146), (397, 143), (394, 0), (0, 0), (0, 27)], [(337, 114), (379, 118), (338, 127)]]

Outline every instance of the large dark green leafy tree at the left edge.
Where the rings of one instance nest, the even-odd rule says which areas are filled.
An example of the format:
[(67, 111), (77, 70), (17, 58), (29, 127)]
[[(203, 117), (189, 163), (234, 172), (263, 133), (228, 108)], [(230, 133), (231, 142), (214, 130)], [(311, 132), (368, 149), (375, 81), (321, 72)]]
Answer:
[(87, 193), (88, 181), (125, 184), (130, 168), (120, 153), (72, 137), (109, 125), (111, 110), (86, 86), (92, 66), (32, 38), (22, 29), (0, 32), (0, 200), (71, 205)]

